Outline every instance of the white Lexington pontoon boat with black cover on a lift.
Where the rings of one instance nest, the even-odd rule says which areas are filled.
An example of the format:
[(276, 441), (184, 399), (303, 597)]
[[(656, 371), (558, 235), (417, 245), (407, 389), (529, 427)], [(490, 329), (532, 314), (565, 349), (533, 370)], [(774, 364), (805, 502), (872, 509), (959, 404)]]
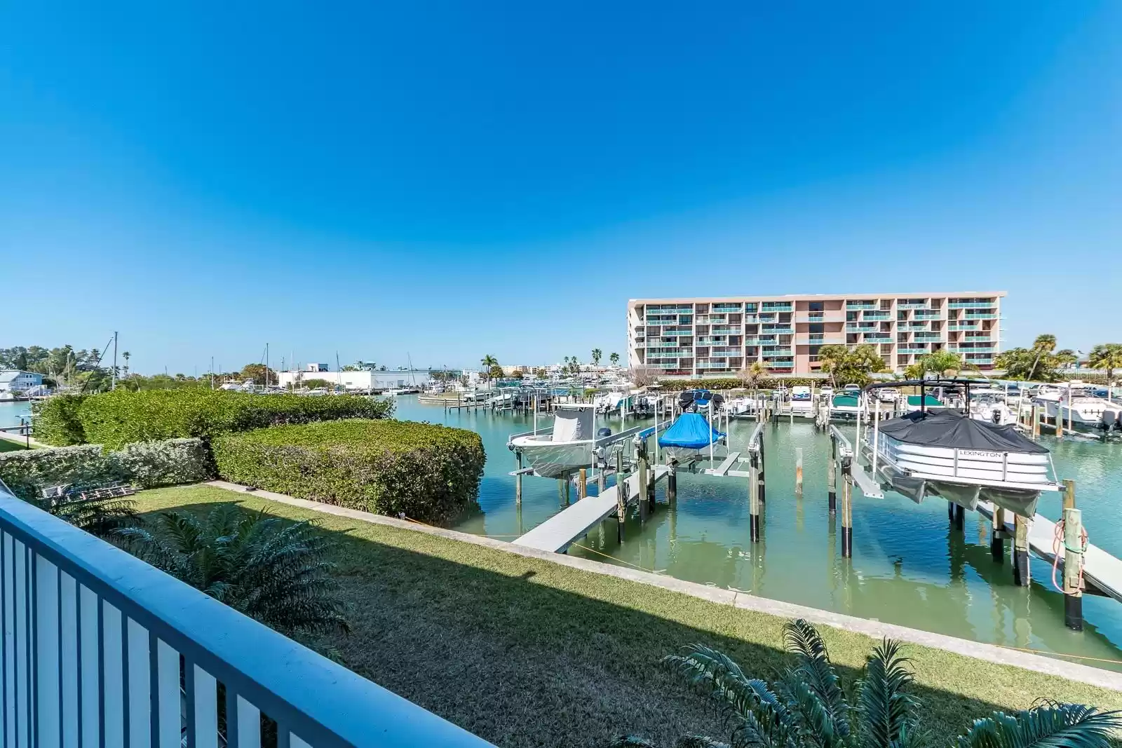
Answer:
[(875, 426), (863, 445), (874, 472), (917, 502), (941, 496), (975, 509), (978, 501), (992, 501), (1031, 517), (1041, 491), (1063, 488), (1051, 477), (1048, 450), (1011, 425), (940, 408)]

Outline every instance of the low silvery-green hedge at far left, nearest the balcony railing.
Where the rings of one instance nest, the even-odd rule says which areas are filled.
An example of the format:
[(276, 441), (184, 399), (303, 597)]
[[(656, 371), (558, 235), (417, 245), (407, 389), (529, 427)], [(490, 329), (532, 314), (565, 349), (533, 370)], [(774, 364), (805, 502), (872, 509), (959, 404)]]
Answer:
[[(54, 398), (53, 398), (54, 399)], [(16, 496), (31, 499), (48, 486), (99, 486), (127, 481), (142, 488), (197, 483), (214, 477), (214, 462), (201, 438), (129, 444), (107, 452), (98, 444), (0, 454), (0, 480)]]

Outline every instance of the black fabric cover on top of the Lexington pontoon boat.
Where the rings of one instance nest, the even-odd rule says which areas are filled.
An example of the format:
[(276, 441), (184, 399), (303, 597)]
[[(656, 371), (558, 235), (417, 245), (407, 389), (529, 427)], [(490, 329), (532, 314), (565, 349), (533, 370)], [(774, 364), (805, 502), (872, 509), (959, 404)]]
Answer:
[(949, 408), (916, 410), (881, 424), (881, 433), (908, 444), (986, 452), (1047, 454), (1048, 450), (1013, 426), (974, 421)]

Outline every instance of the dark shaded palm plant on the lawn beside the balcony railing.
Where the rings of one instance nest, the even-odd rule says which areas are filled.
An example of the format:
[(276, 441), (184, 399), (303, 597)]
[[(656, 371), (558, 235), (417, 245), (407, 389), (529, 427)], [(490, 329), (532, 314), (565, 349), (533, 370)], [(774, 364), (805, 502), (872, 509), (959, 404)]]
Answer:
[(282, 634), (349, 631), (329, 556), (309, 521), (222, 505), (205, 518), (160, 514), (117, 532), (135, 555)]

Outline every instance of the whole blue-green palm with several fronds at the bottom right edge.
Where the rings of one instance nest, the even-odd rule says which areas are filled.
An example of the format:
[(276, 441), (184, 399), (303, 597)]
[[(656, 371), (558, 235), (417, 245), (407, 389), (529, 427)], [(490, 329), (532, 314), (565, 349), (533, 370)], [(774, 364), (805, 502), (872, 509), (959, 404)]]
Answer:
[[(681, 673), (715, 704), (732, 730), (728, 742), (699, 735), (682, 737), (689, 748), (909, 748), (923, 744), (919, 699), (908, 693), (913, 676), (899, 641), (884, 639), (865, 663), (852, 696), (842, 687), (826, 643), (804, 620), (783, 628), (794, 664), (769, 684), (748, 677), (727, 655), (703, 645), (686, 647), (663, 663)], [(1017, 714), (994, 712), (975, 720), (958, 748), (1109, 748), (1122, 712), (1082, 704), (1043, 702)], [(635, 736), (613, 746), (651, 747)]]

